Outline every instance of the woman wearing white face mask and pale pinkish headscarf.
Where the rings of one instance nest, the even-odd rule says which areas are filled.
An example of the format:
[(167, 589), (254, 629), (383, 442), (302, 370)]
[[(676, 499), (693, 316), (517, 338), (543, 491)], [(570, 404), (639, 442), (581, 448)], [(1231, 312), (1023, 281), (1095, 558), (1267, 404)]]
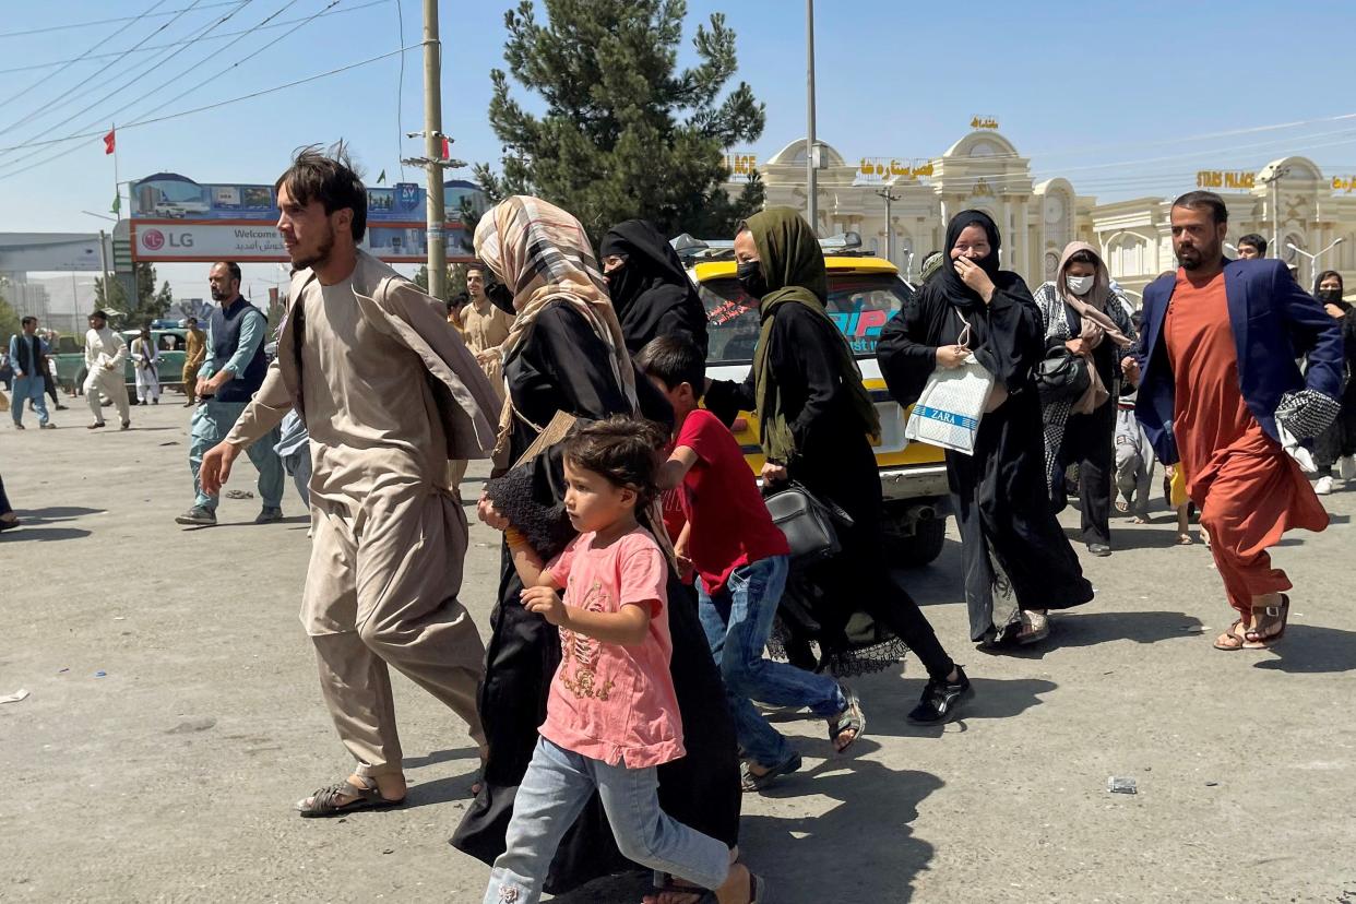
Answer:
[(1111, 556), (1111, 496), (1116, 443), (1116, 397), (1135, 342), (1130, 306), (1112, 291), (1106, 264), (1093, 247), (1064, 247), (1055, 279), (1036, 290), (1045, 347), (1064, 346), (1088, 361), (1092, 385), (1081, 397), (1048, 401), (1045, 482), (1055, 511), (1067, 504), (1064, 470), (1078, 465), (1078, 496), (1088, 552)]

